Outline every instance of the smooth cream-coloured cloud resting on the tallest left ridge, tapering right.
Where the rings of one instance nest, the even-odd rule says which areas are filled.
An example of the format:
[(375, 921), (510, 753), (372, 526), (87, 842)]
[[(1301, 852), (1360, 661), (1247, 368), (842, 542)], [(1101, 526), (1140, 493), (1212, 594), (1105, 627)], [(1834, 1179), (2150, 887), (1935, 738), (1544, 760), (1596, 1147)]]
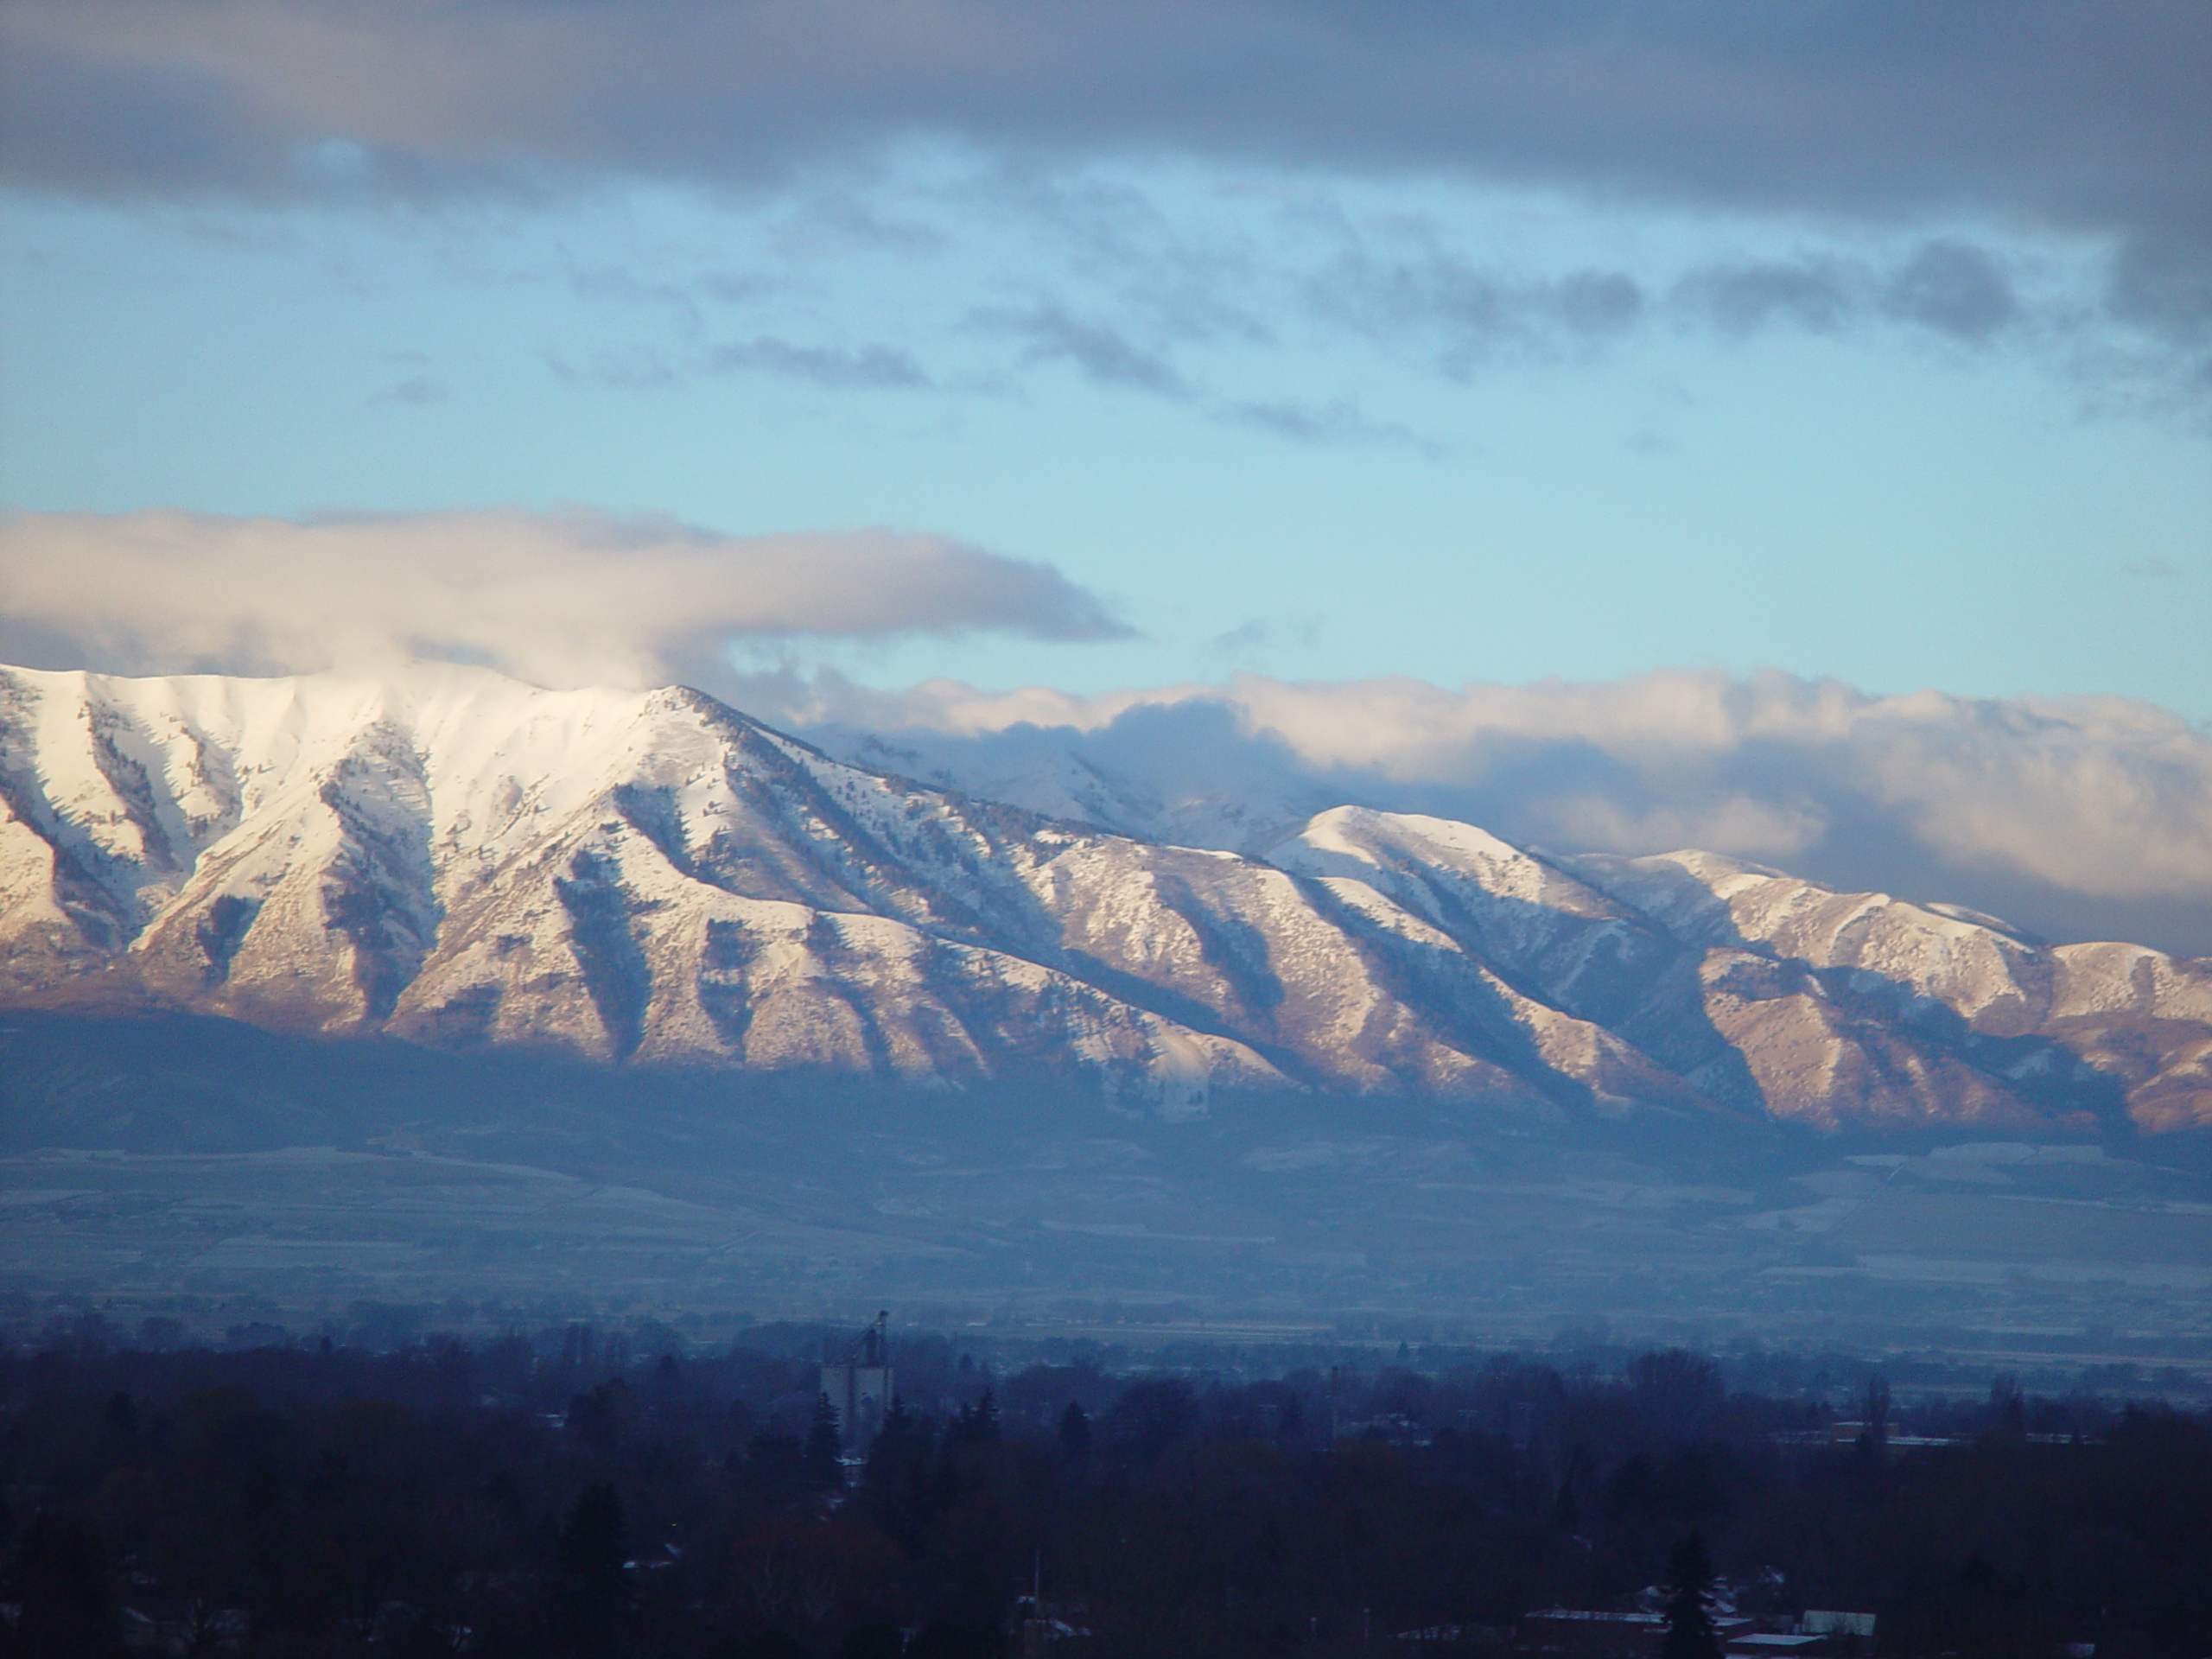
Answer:
[(538, 684), (717, 672), (737, 637), (1113, 639), (1044, 564), (894, 531), (717, 535), (668, 518), (476, 511), (0, 520), (0, 657), (124, 672), (458, 657)]

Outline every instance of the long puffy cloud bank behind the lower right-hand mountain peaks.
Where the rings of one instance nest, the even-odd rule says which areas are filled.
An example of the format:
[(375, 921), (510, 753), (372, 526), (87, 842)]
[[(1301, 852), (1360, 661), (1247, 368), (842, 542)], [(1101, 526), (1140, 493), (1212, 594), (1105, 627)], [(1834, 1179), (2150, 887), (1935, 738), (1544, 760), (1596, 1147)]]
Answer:
[(1075, 761), (1115, 783), (1095, 810), (1137, 832), (1256, 849), (1358, 801), (1568, 852), (1708, 847), (2057, 938), (2212, 953), (2212, 737), (2126, 699), (1686, 670), (1458, 690), (1259, 675), (1099, 697), (790, 675), (726, 690), (856, 759), (898, 754), (1044, 810), (1071, 810), (1053, 792)]

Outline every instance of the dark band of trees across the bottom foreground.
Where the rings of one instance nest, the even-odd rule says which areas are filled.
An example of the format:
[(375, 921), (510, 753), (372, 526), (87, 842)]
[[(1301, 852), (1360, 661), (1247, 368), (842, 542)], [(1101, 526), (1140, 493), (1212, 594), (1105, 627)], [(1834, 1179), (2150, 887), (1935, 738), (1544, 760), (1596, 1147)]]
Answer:
[(1686, 1352), (894, 1363), (858, 1449), (768, 1347), (7, 1349), (0, 1655), (1433, 1659), (1657, 1606), (1686, 1540), (1743, 1610), (1876, 1613), (1882, 1655), (2212, 1652), (2205, 1413), (1869, 1387), (1836, 1438)]

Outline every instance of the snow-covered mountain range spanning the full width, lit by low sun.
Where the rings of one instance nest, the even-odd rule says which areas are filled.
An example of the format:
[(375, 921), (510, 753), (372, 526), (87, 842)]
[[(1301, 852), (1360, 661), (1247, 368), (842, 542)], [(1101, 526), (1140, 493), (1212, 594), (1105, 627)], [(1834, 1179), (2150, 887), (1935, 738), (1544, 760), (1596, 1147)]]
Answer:
[(1166, 1110), (2212, 1124), (2205, 962), (1358, 807), (1161, 845), (1062, 783), (931, 790), (679, 688), (0, 670), (0, 1000)]

